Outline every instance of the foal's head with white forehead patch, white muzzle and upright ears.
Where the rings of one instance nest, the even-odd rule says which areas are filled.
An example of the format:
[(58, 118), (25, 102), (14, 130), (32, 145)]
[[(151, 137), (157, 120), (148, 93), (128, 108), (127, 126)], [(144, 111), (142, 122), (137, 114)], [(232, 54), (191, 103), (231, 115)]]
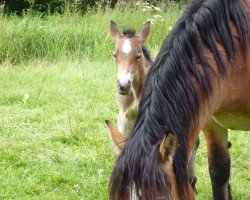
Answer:
[(127, 95), (131, 88), (140, 84), (140, 76), (145, 78), (145, 68), (150, 63), (150, 56), (143, 47), (150, 31), (150, 21), (146, 22), (139, 35), (134, 30), (124, 30), (121, 34), (111, 21), (110, 32), (116, 47), (114, 57), (117, 66), (117, 89), (119, 94)]

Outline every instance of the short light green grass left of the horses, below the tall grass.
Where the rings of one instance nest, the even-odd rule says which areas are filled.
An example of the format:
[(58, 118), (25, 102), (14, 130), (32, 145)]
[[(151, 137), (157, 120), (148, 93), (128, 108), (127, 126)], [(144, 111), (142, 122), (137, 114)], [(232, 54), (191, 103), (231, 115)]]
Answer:
[(114, 155), (104, 120), (117, 113), (111, 65), (1, 66), (1, 199), (107, 199)]

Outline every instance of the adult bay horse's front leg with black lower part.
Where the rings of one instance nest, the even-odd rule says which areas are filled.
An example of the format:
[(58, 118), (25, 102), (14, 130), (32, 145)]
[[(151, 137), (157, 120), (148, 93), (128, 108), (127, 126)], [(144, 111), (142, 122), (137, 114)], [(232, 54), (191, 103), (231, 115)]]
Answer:
[(221, 127), (213, 119), (202, 129), (205, 133), (208, 148), (209, 173), (212, 181), (213, 199), (232, 199), (229, 176), (230, 176), (230, 156), (228, 130)]

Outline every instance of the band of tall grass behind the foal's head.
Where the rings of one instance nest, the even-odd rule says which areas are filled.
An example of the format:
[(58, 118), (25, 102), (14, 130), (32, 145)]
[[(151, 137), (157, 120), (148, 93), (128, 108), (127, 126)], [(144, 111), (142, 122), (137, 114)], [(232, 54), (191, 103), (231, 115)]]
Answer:
[(33, 14), (22, 18), (1, 16), (0, 63), (22, 63), (33, 59), (56, 61), (65, 57), (105, 60), (113, 49), (108, 32), (110, 20), (116, 21), (120, 28), (130, 26), (139, 31), (146, 20), (153, 19), (153, 34), (148, 44), (156, 51), (181, 10), (180, 6), (174, 5), (157, 12), (141, 12), (135, 8), (88, 12), (85, 15), (66, 12), (47, 17)]

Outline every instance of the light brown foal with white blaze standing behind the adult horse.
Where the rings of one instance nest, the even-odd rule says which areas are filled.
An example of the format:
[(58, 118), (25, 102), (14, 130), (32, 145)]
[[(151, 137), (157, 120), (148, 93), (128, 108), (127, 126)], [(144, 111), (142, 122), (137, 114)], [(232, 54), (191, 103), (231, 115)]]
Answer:
[(126, 29), (121, 34), (113, 21), (110, 23), (110, 32), (116, 46), (118, 130), (129, 136), (137, 117), (145, 78), (152, 64), (144, 46), (150, 32), (150, 21), (144, 24), (139, 35), (132, 29)]

